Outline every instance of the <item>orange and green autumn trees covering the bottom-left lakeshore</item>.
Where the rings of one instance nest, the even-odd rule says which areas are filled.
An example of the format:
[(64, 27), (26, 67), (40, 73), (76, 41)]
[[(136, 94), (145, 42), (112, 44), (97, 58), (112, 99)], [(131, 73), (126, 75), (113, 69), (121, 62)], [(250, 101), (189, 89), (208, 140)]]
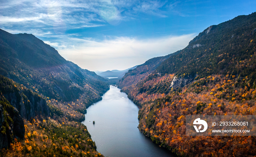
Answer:
[(100, 157), (96, 151), (95, 142), (86, 126), (79, 122), (63, 122), (43, 117), (25, 121), (25, 137), (15, 138), (8, 149), (2, 149), (1, 157), (8, 156), (82, 156)]

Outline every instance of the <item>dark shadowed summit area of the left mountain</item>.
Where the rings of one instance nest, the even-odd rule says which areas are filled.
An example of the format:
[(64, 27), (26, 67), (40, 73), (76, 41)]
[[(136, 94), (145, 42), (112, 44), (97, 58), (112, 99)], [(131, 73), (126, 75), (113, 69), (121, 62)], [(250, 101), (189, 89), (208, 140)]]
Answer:
[[(4, 50), (0, 55), (5, 58), (16, 58), (28, 66), (37, 68), (52, 67), (66, 61), (57, 50), (33, 34), (10, 34), (1, 30), (0, 38), (3, 41), (3, 45), (0, 47)], [(53, 60), (55, 61), (52, 62)]]

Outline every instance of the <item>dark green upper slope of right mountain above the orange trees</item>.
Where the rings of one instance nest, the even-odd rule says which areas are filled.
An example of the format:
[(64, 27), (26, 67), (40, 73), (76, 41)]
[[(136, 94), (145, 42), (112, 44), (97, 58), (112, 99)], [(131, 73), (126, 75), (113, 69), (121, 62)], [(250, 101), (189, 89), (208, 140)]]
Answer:
[(198, 78), (222, 73), (248, 76), (250, 83), (256, 85), (255, 19), (253, 13), (208, 27), (179, 54), (165, 60), (156, 72), (182, 77), (197, 74)]

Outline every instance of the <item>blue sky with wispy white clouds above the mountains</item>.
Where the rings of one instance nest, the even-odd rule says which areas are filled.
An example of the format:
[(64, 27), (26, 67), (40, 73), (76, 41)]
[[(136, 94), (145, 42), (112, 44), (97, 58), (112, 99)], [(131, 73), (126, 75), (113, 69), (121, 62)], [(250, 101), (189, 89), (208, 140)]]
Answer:
[(255, 0), (0, 0), (0, 29), (33, 34), (90, 71), (125, 70), (185, 48)]

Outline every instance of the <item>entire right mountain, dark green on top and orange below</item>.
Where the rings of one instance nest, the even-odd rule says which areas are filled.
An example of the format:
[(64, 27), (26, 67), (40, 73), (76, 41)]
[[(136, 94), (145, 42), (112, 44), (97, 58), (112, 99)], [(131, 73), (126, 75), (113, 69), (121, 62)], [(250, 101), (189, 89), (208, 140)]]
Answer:
[(256, 155), (255, 136), (186, 136), (185, 127), (185, 115), (256, 114), (256, 13), (208, 27), (156, 66), (119, 82), (142, 106), (141, 132), (178, 156)]

